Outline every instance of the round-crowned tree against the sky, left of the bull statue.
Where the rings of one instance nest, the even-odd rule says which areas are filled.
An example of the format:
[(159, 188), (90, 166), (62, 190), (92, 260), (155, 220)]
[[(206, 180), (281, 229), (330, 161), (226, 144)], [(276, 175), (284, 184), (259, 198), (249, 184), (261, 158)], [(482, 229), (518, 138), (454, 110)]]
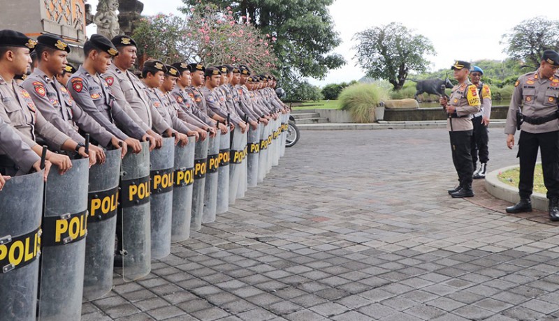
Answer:
[(409, 71), (422, 73), (429, 61), (426, 54), (435, 48), (425, 36), (412, 35), (412, 30), (392, 22), (355, 34), (358, 40), (355, 58), (368, 77), (388, 80), (394, 90), (402, 89)]

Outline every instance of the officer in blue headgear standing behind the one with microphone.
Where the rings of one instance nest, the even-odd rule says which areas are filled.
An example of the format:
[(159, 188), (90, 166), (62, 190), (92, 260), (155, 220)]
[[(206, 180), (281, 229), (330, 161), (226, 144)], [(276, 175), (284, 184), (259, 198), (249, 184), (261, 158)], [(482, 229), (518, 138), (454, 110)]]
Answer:
[[(474, 164), (474, 179), (483, 179), (487, 172), (487, 162), (489, 160), (489, 135), (487, 126), (491, 117), (491, 89), (488, 84), (481, 82), (484, 70), (478, 66), (472, 66), (470, 70), (470, 80), (477, 87), (481, 98), (481, 111), (474, 114), (472, 124), (472, 163)], [(479, 155), (479, 168), (477, 168), (477, 158)]]

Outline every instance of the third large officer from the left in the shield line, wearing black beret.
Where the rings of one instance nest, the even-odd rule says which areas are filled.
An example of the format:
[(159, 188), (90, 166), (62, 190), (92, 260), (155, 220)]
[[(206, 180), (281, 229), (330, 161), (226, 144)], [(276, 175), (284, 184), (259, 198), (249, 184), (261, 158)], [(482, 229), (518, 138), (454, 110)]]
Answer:
[[(150, 150), (155, 140), (140, 128), (117, 103), (106, 80), (100, 76), (106, 73), (110, 59), (118, 54), (117, 49), (106, 37), (94, 34), (83, 47), (85, 61), (68, 80), (66, 86), (72, 98), (82, 110), (106, 128), (112, 135), (126, 142), (135, 153), (142, 150), (138, 140), (150, 141)], [(115, 125), (121, 126), (122, 130)], [(131, 135), (126, 135), (123, 130)]]

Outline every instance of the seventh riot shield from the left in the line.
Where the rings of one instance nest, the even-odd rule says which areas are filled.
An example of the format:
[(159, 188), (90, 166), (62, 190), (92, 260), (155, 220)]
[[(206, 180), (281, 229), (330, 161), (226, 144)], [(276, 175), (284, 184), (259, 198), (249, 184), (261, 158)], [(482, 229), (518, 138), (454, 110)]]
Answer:
[(194, 147), (194, 187), (192, 190), (192, 215), (190, 219), (191, 230), (199, 231), (202, 228), (202, 215), (204, 210), (205, 172), (208, 162), (208, 142), (198, 140)]

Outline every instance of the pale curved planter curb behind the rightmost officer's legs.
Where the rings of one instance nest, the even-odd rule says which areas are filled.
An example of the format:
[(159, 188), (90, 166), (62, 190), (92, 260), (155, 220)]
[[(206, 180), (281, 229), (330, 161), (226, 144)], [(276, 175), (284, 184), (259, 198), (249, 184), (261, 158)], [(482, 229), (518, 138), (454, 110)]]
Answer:
[[(517, 165), (507, 166), (499, 168), (498, 170), (493, 170), (489, 172), (485, 177), (485, 188), (487, 192), (500, 200), (505, 200), (516, 204), (520, 197), (518, 196), (518, 188), (504, 184), (499, 180), (499, 172), (504, 172), (518, 167)], [(539, 211), (548, 211), (548, 200), (546, 195), (542, 193), (532, 194), (532, 209), (538, 209)]]

